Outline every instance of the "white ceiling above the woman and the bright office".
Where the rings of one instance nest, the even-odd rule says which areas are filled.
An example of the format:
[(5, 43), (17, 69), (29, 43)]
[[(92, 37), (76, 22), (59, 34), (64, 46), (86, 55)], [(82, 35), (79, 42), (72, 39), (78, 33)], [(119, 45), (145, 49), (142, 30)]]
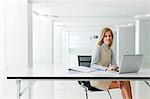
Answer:
[(55, 25), (113, 26), (149, 13), (150, 0), (33, 0), (33, 10), (57, 16)]

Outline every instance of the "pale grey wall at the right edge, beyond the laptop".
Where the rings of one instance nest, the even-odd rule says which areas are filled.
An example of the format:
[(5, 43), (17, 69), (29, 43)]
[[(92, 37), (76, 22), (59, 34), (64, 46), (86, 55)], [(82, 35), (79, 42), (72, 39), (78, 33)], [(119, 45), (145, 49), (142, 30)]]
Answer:
[(143, 66), (150, 67), (150, 20), (138, 20), (136, 24), (136, 32), (139, 33), (139, 53), (144, 54)]

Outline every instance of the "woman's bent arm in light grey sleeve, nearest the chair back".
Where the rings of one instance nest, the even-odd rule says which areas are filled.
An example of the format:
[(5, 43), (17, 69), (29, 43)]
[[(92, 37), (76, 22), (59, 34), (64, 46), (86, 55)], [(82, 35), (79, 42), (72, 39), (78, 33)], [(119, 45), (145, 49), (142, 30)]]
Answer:
[(92, 55), (91, 67), (100, 70), (106, 70), (106, 67), (96, 64), (100, 60), (100, 54), (100, 47), (96, 47)]

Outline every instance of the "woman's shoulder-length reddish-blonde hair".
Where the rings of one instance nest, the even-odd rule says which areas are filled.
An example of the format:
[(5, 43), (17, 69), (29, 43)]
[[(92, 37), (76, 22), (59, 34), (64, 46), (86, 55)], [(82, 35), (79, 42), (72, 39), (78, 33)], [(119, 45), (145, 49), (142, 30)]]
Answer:
[(113, 43), (113, 32), (112, 32), (112, 30), (111, 30), (110, 28), (105, 27), (105, 28), (103, 28), (103, 29), (101, 30), (101, 32), (100, 32), (100, 34), (99, 34), (100, 37), (98, 38), (98, 42), (97, 42), (97, 44), (96, 44), (97, 47), (99, 47), (100, 45), (102, 45), (102, 44), (104, 43), (104, 42), (103, 42), (103, 39), (104, 39), (105, 33), (106, 33), (107, 31), (110, 31), (111, 34), (112, 34), (112, 42), (109, 44), (109, 47), (112, 46), (112, 43)]

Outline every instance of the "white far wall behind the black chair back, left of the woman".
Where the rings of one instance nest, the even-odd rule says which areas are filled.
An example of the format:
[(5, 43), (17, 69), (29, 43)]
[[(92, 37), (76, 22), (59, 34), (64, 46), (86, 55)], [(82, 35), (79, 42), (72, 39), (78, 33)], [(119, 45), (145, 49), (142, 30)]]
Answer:
[(69, 33), (68, 48), (69, 48), (69, 66), (78, 66), (77, 55), (92, 55), (93, 49), (96, 47), (98, 33), (92, 32), (77, 32)]

